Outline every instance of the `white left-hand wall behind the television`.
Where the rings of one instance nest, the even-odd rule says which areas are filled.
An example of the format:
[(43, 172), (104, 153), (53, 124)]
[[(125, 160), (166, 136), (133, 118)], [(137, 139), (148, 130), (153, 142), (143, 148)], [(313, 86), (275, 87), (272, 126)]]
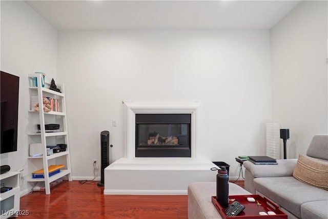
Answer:
[[(57, 31), (23, 1), (1, 1), (1, 70), (19, 76), (17, 151), (1, 154), (1, 165), (27, 172), (28, 74), (46, 73), (56, 77)], [(24, 182), (22, 189), (27, 188)]]

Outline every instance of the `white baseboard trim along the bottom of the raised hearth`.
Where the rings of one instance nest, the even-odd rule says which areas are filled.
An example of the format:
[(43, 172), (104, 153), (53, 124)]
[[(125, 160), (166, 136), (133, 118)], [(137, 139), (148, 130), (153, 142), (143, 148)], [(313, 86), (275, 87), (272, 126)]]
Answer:
[(104, 195), (187, 195), (187, 190), (104, 190)]

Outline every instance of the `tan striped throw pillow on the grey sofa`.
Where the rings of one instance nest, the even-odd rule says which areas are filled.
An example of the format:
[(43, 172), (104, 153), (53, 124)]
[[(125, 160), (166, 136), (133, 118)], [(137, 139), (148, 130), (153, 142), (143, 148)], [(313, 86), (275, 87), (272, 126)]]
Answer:
[(328, 190), (328, 162), (299, 155), (293, 176), (303, 183)]

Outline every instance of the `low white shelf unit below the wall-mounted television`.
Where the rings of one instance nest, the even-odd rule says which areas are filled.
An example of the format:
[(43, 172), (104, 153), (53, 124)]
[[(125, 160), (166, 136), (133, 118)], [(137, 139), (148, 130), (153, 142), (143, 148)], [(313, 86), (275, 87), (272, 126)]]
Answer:
[(11, 190), (0, 193), (1, 219), (12, 217), (19, 212), (19, 175), (20, 172), (7, 172), (0, 175), (0, 182)]

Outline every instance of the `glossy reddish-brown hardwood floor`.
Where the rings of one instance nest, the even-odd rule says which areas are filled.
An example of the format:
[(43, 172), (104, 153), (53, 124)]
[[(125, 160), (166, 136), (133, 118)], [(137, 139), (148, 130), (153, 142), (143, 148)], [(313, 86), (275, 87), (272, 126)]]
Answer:
[[(20, 198), (19, 218), (187, 219), (187, 195), (104, 195), (104, 188), (64, 181), (51, 194), (33, 192)], [(243, 181), (236, 184), (243, 187)]]

